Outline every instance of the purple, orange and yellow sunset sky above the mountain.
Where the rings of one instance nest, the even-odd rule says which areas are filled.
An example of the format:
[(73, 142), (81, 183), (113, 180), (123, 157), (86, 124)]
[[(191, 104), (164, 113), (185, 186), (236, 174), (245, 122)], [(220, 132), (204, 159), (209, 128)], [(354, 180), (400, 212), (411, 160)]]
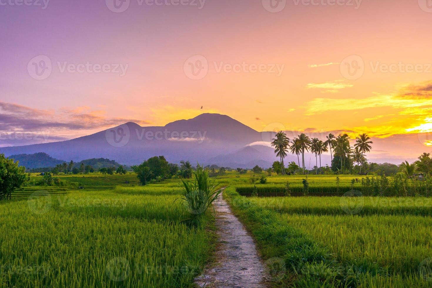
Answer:
[(0, 146), (211, 112), (413, 160), (431, 21), (431, 0), (0, 0)]

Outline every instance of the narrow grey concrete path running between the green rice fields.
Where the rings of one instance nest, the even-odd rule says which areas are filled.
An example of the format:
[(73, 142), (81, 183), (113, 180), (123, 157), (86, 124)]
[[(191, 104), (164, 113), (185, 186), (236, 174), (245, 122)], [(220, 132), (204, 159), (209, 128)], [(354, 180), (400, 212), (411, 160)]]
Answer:
[(264, 265), (245, 227), (222, 196), (214, 204), (219, 235), (216, 261), (195, 279), (200, 287), (265, 287)]

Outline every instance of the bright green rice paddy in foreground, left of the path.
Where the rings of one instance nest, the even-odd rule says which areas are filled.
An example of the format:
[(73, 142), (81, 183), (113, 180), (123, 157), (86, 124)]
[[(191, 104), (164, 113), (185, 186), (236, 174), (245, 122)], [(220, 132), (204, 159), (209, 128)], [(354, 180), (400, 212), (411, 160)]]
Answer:
[(212, 223), (189, 223), (174, 194), (119, 187), (3, 201), (0, 287), (191, 287), (213, 250)]

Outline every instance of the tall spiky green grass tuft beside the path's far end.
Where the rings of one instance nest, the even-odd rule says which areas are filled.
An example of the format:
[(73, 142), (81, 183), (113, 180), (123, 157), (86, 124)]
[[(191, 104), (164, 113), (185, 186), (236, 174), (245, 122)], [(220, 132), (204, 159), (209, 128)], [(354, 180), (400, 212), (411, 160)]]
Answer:
[(192, 215), (201, 215), (212, 205), (221, 191), (216, 190), (216, 180), (211, 180), (207, 171), (198, 165), (194, 180), (181, 180), (181, 199)]

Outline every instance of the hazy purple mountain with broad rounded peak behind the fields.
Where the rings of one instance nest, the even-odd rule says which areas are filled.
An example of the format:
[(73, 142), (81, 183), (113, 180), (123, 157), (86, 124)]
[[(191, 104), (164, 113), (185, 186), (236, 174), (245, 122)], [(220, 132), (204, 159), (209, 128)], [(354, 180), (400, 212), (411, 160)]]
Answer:
[[(1, 148), (7, 155), (48, 153), (54, 158), (75, 162), (89, 158), (110, 158), (126, 165), (137, 165), (153, 156), (164, 155), (174, 163), (189, 160), (191, 163), (208, 163), (209, 158), (236, 153), (263, 137), (256, 130), (221, 114), (201, 114), (189, 120), (178, 120), (163, 127), (141, 127), (136, 123), (125, 123), (92, 135), (72, 140)], [(256, 149), (255, 149), (256, 150)], [(235, 162), (265, 160), (255, 151), (250, 158)], [(223, 158), (223, 156), (220, 156)], [(249, 157), (249, 158), (248, 158)], [(228, 157), (220, 164), (231, 162)], [(213, 164), (213, 163), (211, 163)], [(256, 164), (255, 164), (256, 165)]]

